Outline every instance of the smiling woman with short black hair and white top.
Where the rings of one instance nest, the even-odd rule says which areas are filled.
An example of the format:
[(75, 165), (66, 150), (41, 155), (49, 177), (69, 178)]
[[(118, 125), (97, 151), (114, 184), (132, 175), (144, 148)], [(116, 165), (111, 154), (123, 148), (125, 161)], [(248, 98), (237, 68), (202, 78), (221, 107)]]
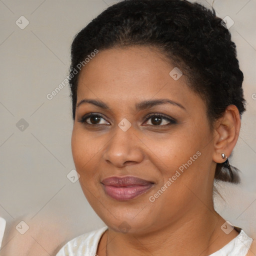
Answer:
[(245, 100), (230, 37), (185, 0), (121, 1), (75, 36), (72, 155), (106, 227), (57, 256), (255, 253), (212, 202), (214, 178), (239, 182), (227, 157)]

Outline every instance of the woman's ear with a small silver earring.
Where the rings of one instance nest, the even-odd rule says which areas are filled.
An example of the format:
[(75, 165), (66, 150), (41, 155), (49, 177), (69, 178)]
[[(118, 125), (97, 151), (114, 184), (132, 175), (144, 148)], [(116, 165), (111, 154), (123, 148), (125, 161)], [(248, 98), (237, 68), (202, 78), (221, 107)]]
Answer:
[(218, 163), (226, 160), (221, 157), (224, 153), (228, 157), (238, 139), (241, 126), (240, 115), (235, 105), (228, 105), (224, 114), (214, 125), (214, 153), (212, 160)]

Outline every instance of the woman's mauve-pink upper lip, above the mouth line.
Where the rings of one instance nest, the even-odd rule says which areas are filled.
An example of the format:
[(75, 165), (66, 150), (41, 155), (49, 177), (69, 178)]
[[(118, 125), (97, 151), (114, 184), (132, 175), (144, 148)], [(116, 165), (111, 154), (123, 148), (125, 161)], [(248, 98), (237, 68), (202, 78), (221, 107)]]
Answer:
[(135, 186), (135, 185), (148, 185), (152, 184), (153, 182), (134, 177), (134, 176), (125, 176), (125, 177), (117, 177), (112, 176), (108, 178), (104, 178), (101, 183), (108, 186), (116, 186), (116, 187), (122, 187), (122, 186)]

